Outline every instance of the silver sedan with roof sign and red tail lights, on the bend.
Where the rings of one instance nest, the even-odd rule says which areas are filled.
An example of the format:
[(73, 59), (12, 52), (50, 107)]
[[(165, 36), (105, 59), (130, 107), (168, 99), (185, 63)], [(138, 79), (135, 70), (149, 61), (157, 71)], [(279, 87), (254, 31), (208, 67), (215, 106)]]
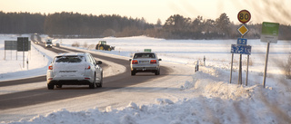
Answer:
[(155, 52), (136, 52), (130, 61), (131, 75), (136, 72), (154, 72), (160, 74), (160, 64)]

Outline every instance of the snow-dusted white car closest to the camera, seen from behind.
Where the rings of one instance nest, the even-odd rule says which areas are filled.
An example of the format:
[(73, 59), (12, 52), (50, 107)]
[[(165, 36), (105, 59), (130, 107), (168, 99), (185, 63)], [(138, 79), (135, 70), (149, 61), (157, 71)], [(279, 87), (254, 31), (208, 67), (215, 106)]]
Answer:
[(65, 52), (55, 56), (46, 72), (47, 89), (62, 88), (63, 85), (89, 85), (102, 87), (103, 70), (87, 52)]

